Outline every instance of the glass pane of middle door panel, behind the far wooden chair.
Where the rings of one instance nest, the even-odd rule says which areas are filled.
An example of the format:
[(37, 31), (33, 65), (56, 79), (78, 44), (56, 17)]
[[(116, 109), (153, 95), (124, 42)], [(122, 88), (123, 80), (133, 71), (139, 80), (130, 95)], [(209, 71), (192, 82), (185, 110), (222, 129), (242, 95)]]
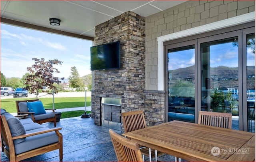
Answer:
[(238, 122), (238, 37), (201, 44), (201, 110), (232, 113)]

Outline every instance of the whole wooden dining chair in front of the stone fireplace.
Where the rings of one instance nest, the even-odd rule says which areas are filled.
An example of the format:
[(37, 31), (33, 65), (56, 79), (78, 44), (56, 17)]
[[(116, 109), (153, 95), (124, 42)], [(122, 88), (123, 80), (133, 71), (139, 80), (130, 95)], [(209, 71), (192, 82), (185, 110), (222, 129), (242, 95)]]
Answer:
[[(143, 111), (132, 111), (132, 112), (124, 112), (122, 113), (122, 119), (124, 123), (124, 132), (131, 132), (134, 130), (140, 130), (146, 128), (146, 120)], [(158, 155), (163, 154), (162, 152), (158, 152), (157, 150), (140, 146), (140, 151), (143, 155), (149, 156), (149, 161), (151, 162), (151, 158), (155, 158), (157, 161)]]

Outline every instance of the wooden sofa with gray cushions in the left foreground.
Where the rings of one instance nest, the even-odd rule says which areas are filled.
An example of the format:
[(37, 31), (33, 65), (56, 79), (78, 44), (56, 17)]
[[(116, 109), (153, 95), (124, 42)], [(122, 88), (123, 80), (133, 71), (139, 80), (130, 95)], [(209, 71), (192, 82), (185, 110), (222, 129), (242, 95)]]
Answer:
[(2, 152), (10, 162), (18, 162), (53, 150), (59, 150), (60, 160), (63, 159), (62, 134), (59, 132), (62, 128), (50, 129), (30, 118), (18, 119), (2, 108), (0, 117)]

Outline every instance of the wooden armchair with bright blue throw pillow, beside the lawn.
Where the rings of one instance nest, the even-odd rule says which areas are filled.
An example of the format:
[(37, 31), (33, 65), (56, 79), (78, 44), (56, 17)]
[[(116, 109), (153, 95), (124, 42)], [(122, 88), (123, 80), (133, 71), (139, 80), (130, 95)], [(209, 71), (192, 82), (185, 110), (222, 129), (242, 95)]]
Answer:
[[(16, 109), (17, 115), (28, 114), (27, 118), (31, 118), (33, 122), (38, 124), (54, 122), (54, 127), (56, 127), (56, 114), (54, 112), (56, 109), (44, 108), (39, 99), (16, 101)], [(52, 110), (52, 112), (45, 110)]]

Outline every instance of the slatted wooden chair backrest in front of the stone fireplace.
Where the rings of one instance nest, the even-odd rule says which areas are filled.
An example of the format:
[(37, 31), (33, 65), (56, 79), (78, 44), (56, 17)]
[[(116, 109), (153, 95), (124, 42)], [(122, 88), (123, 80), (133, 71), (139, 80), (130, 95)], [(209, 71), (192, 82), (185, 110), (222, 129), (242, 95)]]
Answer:
[(122, 119), (126, 133), (147, 127), (143, 111), (123, 112)]

